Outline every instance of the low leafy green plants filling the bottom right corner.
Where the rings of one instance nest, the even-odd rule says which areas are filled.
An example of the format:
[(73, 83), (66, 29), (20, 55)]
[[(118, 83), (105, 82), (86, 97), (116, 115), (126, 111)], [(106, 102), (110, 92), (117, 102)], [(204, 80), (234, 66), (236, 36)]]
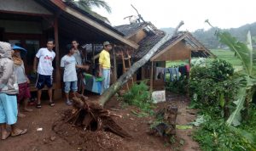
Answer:
[(208, 119), (195, 131), (193, 138), (205, 151), (247, 151), (255, 150), (240, 133), (225, 125), (224, 119)]

